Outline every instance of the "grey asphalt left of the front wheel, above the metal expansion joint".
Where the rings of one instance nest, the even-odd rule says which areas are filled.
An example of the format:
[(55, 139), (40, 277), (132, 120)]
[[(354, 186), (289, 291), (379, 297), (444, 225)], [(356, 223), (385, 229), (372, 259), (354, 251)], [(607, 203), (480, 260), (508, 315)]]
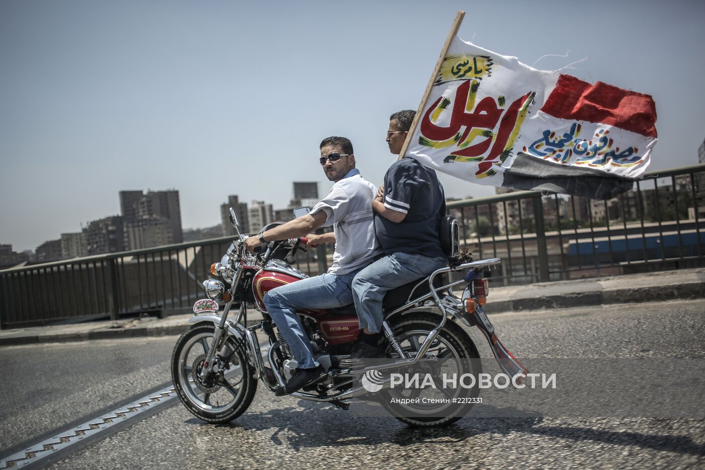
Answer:
[(3, 457), (164, 388), (171, 380), (168, 361), (175, 339), (0, 348)]

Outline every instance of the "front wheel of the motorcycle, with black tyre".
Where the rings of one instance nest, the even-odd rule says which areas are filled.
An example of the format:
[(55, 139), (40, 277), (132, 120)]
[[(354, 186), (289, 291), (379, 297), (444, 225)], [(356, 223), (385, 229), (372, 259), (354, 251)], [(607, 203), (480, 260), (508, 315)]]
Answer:
[(215, 326), (200, 323), (179, 337), (171, 354), (171, 379), (181, 403), (208, 423), (226, 423), (243, 414), (257, 391), (245, 344), (228, 337), (213, 361), (218, 370), (202, 377)]

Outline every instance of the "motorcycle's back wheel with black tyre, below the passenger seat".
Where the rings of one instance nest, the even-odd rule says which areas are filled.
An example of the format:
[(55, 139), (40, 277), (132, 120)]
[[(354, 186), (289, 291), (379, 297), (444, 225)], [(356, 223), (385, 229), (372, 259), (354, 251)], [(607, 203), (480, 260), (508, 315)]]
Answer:
[[(400, 347), (407, 356), (415, 356), (431, 330), (441, 321), (436, 313), (403, 315), (391, 325)], [(389, 356), (398, 356), (391, 348)], [(447, 426), (465, 416), (479, 396), (479, 387), (446, 388), (442, 377), (475, 377), (482, 373), (482, 362), (470, 336), (448, 320), (427, 350), (424, 358), (408, 370), (400, 370), (406, 378), (419, 376), (419, 382), (384, 390), (381, 404), (395, 418), (410, 426), (431, 428)], [(405, 375), (406, 374), (406, 375)], [(422, 387), (426, 375), (434, 379), (435, 387)]]

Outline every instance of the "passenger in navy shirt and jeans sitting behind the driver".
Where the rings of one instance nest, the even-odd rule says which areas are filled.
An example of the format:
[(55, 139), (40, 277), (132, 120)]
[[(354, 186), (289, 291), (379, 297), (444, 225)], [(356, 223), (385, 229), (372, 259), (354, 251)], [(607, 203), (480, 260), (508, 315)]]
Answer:
[[(415, 114), (405, 110), (390, 116), (386, 140), (393, 155), (399, 155)], [(355, 311), (363, 333), (341, 367), (360, 366), (362, 358), (385, 355), (379, 342), (382, 299), (387, 291), (426, 277), (448, 263), (439, 238), (446, 201), (436, 171), (416, 159), (399, 159), (387, 170), (372, 209), (385, 256), (353, 279)]]

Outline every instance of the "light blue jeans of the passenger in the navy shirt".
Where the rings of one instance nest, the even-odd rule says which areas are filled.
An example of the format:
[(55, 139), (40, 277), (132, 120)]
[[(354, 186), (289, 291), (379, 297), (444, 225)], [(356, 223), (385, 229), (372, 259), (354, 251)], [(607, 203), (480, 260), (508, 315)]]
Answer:
[(358, 272), (353, 280), (353, 299), (360, 330), (379, 333), (382, 328), (382, 299), (391, 289), (426, 277), (448, 265), (448, 258), (430, 258), (410, 253), (392, 253)]

